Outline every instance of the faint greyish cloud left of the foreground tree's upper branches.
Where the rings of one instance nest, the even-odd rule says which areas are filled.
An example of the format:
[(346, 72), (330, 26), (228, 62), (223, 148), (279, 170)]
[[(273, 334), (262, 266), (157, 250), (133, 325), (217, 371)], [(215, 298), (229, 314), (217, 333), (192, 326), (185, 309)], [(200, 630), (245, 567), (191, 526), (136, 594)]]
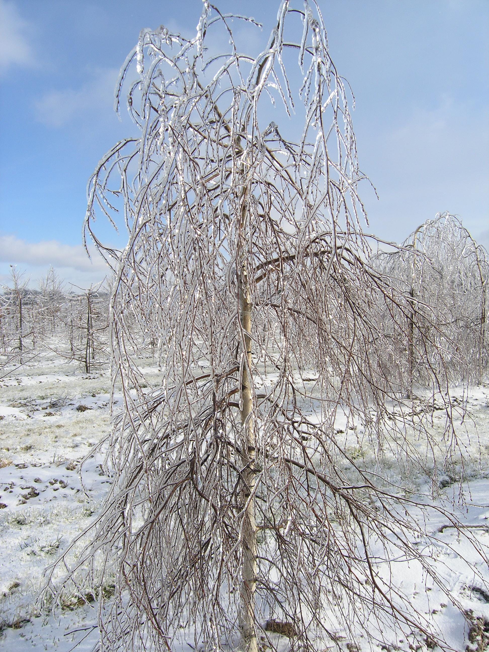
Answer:
[(118, 74), (116, 68), (101, 68), (78, 89), (46, 93), (35, 103), (38, 121), (55, 128), (94, 114), (100, 121), (100, 115), (111, 114)]

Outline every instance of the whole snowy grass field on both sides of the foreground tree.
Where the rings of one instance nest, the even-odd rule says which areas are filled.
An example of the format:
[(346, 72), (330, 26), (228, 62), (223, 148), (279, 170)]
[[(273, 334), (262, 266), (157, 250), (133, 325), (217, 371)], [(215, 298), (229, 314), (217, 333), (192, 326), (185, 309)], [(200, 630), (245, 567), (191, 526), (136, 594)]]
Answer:
[[(146, 376), (148, 372), (152, 375), (151, 361), (142, 364)], [(157, 374), (155, 368), (155, 384)], [(2, 649), (87, 651), (97, 640), (96, 600), (83, 604), (67, 595), (53, 615), (38, 606), (36, 597), (44, 569), (89, 525), (110, 486), (103, 451), (90, 456), (91, 449), (110, 432), (109, 393), (108, 372), (83, 374), (76, 365), (63, 363), (54, 355), (12, 368), (0, 379)], [(436, 419), (433, 427), (437, 427)], [(466, 461), (441, 479), (439, 504), (454, 511), (464, 527), (443, 527), (449, 525), (448, 520), (428, 509), (420, 512), (419, 518), (427, 520), (430, 539), (417, 542), (420, 548), (431, 546), (451, 593), (447, 597), (426, 578), (417, 562), (397, 559), (388, 572), (391, 582), (412, 598), (417, 610), (443, 632), (454, 650), (479, 652), (487, 649), (489, 641), (489, 569), (467, 544), (466, 533), (477, 539), (487, 555), (488, 385), (471, 389), (467, 415), (456, 427), (467, 449)], [(374, 451), (359, 454), (373, 456)], [(396, 472), (400, 473), (393, 467), (393, 477)], [(422, 478), (413, 482), (420, 492), (424, 490)], [(106, 587), (106, 600), (110, 600), (110, 588)], [(274, 636), (280, 648), (294, 647), (293, 639)], [(432, 642), (416, 631), (408, 638), (395, 638), (393, 632), (384, 632), (384, 636), (385, 644), (376, 647), (379, 652), (433, 649)], [(262, 647), (264, 651), (266, 646)], [(186, 644), (183, 634), (182, 650), (192, 649), (192, 639)], [(336, 643), (327, 649), (359, 652), (370, 648), (360, 634), (353, 640), (351, 632), (337, 631)]]

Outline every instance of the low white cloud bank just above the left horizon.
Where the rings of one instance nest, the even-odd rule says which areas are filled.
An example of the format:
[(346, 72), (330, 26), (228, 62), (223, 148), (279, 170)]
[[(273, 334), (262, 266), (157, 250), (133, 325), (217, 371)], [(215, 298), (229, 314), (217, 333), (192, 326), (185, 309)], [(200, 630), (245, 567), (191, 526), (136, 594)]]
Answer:
[(52, 265), (56, 269), (96, 273), (102, 278), (108, 272), (100, 256), (89, 259), (81, 244), (63, 244), (57, 240), (27, 243), (15, 235), (0, 235), (0, 261), (34, 267)]

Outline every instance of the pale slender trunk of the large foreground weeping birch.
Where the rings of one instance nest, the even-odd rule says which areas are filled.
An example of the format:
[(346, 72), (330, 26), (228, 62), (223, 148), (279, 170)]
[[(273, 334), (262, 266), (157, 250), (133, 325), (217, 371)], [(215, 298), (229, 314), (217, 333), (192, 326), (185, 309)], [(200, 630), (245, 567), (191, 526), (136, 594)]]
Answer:
[(252, 379), (250, 371), (251, 358), (251, 317), (252, 304), (248, 274), (243, 266), (238, 274), (239, 319), (243, 329), (244, 361), (241, 373), (241, 507), (243, 516), (242, 575), (241, 575), (241, 650), (258, 652), (258, 640), (255, 629), (255, 588), (257, 569), (256, 521), (254, 508), (255, 485), (255, 431), (253, 415)]

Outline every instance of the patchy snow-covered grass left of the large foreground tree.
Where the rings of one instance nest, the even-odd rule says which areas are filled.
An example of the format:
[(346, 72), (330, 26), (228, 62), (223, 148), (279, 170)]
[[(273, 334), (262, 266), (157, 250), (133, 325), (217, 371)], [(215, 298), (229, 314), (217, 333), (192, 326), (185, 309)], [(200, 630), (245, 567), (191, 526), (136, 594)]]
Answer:
[[(0, 379), (0, 646), (68, 650), (71, 624), (35, 606), (43, 572), (89, 524), (110, 479), (95, 454), (110, 431), (110, 381), (54, 356)], [(92, 609), (88, 610), (93, 611)], [(87, 616), (94, 618), (93, 614)], [(86, 633), (86, 632), (83, 632)], [(71, 646), (73, 643), (71, 643)]]

